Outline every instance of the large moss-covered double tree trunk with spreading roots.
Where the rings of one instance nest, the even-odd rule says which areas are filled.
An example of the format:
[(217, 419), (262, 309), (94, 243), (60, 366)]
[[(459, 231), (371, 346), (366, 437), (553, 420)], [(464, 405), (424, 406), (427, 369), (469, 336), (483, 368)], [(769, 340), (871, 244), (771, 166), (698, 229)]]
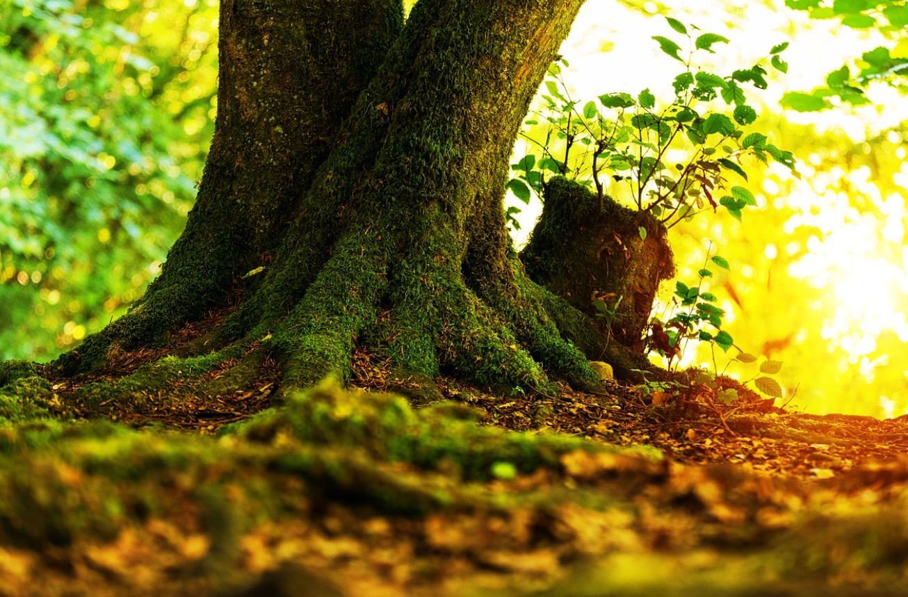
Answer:
[(579, 314), (525, 275), (502, 209), (518, 128), (582, 4), (420, 0), (403, 24), (400, 0), (222, 0), (187, 228), (138, 305), (59, 368), (166, 343), (231, 297), (217, 347), (275, 358), (284, 388), (346, 376), (356, 344), (422, 376), (596, 386), (559, 326)]

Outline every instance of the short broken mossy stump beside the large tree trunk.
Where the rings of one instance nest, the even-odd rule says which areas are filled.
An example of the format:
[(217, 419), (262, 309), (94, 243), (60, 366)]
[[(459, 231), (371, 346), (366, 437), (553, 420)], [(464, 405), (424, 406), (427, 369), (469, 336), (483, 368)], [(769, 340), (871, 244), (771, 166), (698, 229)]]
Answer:
[(602, 331), (642, 352), (656, 290), (675, 275), (665, 226), (609, 197), (600, 209), (594, 193), (564, 178), (549, 181), (544, 197), (520, 255), (529, 277), (591, 317), (594, 301), (605, 301), (615, 317), (597, 318)]

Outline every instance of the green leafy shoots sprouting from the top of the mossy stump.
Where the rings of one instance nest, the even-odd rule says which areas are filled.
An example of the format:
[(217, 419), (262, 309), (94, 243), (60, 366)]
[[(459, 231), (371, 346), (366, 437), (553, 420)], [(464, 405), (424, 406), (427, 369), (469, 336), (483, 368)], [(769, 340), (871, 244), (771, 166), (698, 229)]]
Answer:
[[(757, 119), (745, 88), (766, 88), (764, 66), (755, 64), (726, 76), (699, 71), (696, 54), (715, 53), (716, 44), (729, 40), (718, 34), (698, 34), (694, 25), (688, 30), (674, 18), (668, 17), (667, 22), (686, 37), (690, 48), (682, 55), (675, 41), (653, 37), (685, 69), (674, 78), (675, 97), (668, 103), (658, 102), (649, 89), (636, 97), (606, 93), (598, 102), (582, 103), (571, 96), (561, 76), (562, 66), (568, 63), (552, 64), (542, 95), (544, 106), (527, 121), (529, 126), (545, 123), (544, 141), (537, 142), (524, 132), (525, 139), (536, 143), (536, 151), (512, 165), (517, 176), (508, 182), (520, 201), (528, 203), (531, 191), (541, 192), (547, 176), (564, 175), (595, 186), (600, 209), (607, 191), (613, 191), (618, 201), (652, 213), (668, 228), (720, 206), (740, 220), (745, 207), (755, 205), (754, 195), (725, 177), (735, 174), (746, 180), (741, 167), (746, 156), (764, 162), (772, 159), (794, 169), (791, 152), (778, 149), (765, 134), (745, 128)], [(781, 72), (787, 70), (780, 57), (786, 46), (778, 44), (768, 55)], [(724, 104), (716, 102), (719, 97)], [(517, 212), (516, 207), (508, 210), (512, 225)], [(640, 234), (645, 237), (646, 230)]]

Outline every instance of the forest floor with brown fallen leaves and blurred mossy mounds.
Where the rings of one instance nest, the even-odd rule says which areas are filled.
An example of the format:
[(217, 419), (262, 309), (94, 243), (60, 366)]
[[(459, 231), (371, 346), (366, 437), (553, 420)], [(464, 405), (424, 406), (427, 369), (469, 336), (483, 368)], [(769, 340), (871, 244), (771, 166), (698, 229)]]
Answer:
[(722, 378), (731, 405), (693, 382), (502, 396), (354, 366), (361, 390), (258, 416), (267, 362), (213, 398), (54, 384), (49, 411), (94, 422), (0, 427), (0, 594), (908, 595), (904, 420)]

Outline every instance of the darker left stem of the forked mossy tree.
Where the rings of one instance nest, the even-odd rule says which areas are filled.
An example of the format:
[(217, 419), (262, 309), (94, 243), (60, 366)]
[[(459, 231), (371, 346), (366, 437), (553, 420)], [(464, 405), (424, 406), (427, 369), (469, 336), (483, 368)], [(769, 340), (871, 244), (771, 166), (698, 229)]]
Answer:
[(143, 298), (64, 356), (67, 368), (160, 342), (271, 260), (402, 26), (400, 0), (222, 0), (218, 113), (186, 229)]

